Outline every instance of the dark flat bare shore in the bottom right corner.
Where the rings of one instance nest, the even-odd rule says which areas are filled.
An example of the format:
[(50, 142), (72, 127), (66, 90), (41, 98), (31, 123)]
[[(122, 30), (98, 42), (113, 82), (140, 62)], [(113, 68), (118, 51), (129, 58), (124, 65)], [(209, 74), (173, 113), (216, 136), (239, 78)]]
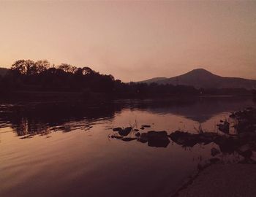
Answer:
[(178, 196), (234, 197), (256, 195), (256, 165), (214, 164), (198, 176)]

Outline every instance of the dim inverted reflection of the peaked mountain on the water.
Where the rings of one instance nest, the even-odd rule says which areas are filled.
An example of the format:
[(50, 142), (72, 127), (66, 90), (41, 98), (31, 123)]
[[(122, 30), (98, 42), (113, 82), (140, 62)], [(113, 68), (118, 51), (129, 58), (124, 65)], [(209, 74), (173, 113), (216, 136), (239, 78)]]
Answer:
[(145, 103), (137, 107), (157, 114), (180, 115), (203, 123), (219, 113), (233, 112), (252, 105), (255, 104), (250, 97), (195, 97), (171, 102)]

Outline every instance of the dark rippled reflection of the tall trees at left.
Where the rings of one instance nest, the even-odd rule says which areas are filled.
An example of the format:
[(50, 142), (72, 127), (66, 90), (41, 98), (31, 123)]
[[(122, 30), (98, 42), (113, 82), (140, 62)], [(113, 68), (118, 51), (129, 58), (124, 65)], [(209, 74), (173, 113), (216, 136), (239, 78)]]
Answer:
[(83, 104), (38, 104), (3, 109), (0, 120), (10, 123), (17, 135), (24, 138), (55, 131), (69, 132), (79, 128), (88, 130), (95, 120), (112, 119), (115, 112), (120, 110), (112, 104), (93, 109)]

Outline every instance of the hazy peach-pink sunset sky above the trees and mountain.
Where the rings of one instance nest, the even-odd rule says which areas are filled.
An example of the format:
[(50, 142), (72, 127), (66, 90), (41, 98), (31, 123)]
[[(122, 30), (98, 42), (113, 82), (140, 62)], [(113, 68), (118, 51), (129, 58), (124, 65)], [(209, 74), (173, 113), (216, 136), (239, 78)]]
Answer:
[(256, 79), (256, 1), (0, 1), (0, 66), (18, 59), (124, 82), (197, 68)]

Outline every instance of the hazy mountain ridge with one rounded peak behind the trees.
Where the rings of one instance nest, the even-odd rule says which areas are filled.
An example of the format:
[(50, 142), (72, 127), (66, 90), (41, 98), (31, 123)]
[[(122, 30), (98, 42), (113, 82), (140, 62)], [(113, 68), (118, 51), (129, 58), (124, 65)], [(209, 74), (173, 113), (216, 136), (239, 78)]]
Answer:
[[(154, 80), (156, 79), (156, 80)], [(142, 82), (173, 85), (192, 85), (195, 88), (256, 88), (256, 80), (246, 80), (238, 77), (221, 77), (205, 69), (195, 69), (186, 74), (170, 78), (153, 78)]]

